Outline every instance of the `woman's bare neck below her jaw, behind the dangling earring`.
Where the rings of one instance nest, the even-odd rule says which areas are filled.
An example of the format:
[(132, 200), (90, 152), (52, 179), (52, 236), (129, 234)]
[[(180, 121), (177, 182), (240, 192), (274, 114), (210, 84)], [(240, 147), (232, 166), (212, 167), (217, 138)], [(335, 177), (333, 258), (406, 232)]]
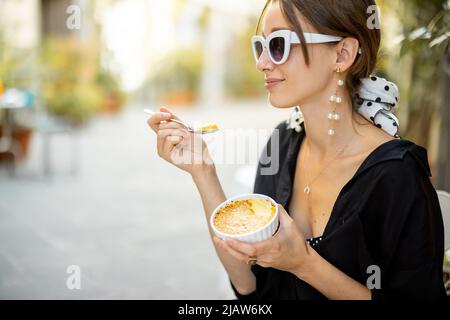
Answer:
[[(331, 93), (330, 93), (331, 96)], [(324, 107), (326, 106), (326, 107)], [(336, 107), (339, 114), (338, 121), (329, 120), (328, 114), (334, 109), (329, 97), (301, 105), (304, 125), (311, 155), (317, 158), (329, 158), (336, 155), (336, 150), (344, 147), (355, 134), (353, 111), (351, 101), (343, 98), (342, 103)], [(335, 134), (330, 136), (328, 129), (334, 129)]]

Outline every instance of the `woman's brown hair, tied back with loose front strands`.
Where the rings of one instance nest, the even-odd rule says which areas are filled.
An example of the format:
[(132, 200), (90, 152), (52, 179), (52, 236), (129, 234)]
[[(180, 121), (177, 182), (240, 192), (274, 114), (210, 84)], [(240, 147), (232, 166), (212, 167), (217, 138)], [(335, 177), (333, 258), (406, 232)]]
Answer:
[[(362, 55), (348, 70), (346, 87), (350, 97), (355, 95), (361, 85), (361, 78), (367, 78), (375, 69), (381, 32), (378, 28), (367, 26), (367, 8), (376, 5), (375, 0), (267, 0), (259, 17), (256, 33), (259, 32), (261, 20), (269, 3), (278, 1), (283, 16), (304, 43), (303, 30), (298, 20), (298, 13), (308, 20), (320, 33), (340, 37), (352, 37), (359, 41)], [(306, 46), (302, 45), (305, 62), (309, 64)]]

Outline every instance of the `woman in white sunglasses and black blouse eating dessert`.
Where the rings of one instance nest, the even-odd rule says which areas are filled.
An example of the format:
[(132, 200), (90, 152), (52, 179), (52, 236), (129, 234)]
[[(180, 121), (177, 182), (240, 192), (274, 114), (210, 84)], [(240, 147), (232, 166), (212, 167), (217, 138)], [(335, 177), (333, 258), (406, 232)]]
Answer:
[[(257, 68), (271, 104), (302, 114), (296, 108), (263, 153), (276, 144), (268, 156), (279, 158), (278, 172), (258, 167), (254, 191), (279, 203), (277, 234), (246, 244), (211, 233), (240, 299), (445, 295), (443, 223), (426, 150), (396, 134), (396, 86), (369, 78), (380, 44), (368, 26), (371, 5), (269, 0), (264, 8), (262, 36), (253, 38)], [(200, 152), (192, 147), (201, 138), (171, 118), (161, 108), (148, 120), (158, 154), (191, 174), (209, 221), (226, 199), (214, 164), (202, 141)]]

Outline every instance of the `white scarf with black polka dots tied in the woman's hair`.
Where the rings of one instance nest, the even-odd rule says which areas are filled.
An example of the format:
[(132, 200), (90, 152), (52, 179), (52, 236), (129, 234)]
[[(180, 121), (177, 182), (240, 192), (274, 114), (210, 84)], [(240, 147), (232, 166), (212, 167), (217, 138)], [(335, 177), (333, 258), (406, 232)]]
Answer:
[[(379, 77), (361, 79), (361, 88), (356, 94), (358, 113), (393, 137), (399, 138), (399, 120), (392, 113), (398, 104), (398, 87), (393, 82)], [(296, 107), (287, 120), (288, 129), (301, 131), (303, 115)]]

